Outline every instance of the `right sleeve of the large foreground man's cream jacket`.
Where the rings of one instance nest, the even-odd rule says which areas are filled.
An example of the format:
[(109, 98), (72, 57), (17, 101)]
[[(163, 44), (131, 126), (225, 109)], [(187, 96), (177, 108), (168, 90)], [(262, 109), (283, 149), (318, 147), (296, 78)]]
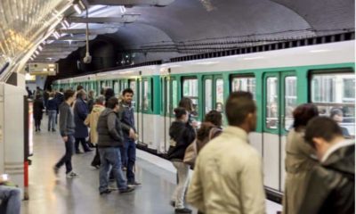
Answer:
[(263, 189), (262, 160), (255, 152), (243, 163), (237, 176), (240, 182), (240, 202), (243, 213), (264, 214), (265, 193)]

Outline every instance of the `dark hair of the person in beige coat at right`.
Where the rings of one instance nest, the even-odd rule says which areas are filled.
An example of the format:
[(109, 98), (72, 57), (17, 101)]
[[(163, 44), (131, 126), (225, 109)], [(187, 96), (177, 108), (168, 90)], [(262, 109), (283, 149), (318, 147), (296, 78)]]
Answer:
[(295, 111), (293, 111), (293, 117), (295, 119), (293, 128), (297, 130), (298, 128), (305, 127), (309, 120), (317, 116), (319, 116), (319, 111), (314, 104), (301, 104), (295, 108)]

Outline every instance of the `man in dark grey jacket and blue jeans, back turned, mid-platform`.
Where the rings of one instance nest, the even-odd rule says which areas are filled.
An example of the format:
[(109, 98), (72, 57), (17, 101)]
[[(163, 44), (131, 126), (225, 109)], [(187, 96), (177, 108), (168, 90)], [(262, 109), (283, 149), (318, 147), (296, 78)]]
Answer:
[(118, 100), (111, 97), (106, 103), (106, 109), (101, 112), (98, 119), (98, 148), (101, 156), (100, 167), (100, 187), (101, 194), (110, 193), (109, 190), (109, 166), (117, 181), (117, 188), (120, 193), (134, 191), (133, 187), (127, 186), (124, 174), (121, 169), (120, 147), (124, 145), (121, 122), (117, 117), (119, 110)]

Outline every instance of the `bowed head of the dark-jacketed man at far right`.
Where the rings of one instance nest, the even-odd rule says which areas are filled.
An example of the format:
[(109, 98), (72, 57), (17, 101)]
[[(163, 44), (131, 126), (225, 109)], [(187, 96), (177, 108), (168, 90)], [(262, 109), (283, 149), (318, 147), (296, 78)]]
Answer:
[(306, 126), (304, 139), (316, 149), (318, 159), (321, 160), (329, 147), (343, 141), (344, 136), (336, 121), (328, 117), (316, 117)]

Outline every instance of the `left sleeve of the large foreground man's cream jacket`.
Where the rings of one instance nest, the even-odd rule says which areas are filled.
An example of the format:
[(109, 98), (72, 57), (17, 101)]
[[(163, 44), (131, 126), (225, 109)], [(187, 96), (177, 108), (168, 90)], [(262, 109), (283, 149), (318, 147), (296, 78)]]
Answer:
[(187, 192), (187, 202), (189, 202), (194, 207), (198, 208), (198, 210), (205, 212), (204, 209), (204, 192), (203, 185), (200, 179), (199, 173), (199, 156), (195, 165), (193, 177), (191, 178), (190, 185), (188, 187)]

